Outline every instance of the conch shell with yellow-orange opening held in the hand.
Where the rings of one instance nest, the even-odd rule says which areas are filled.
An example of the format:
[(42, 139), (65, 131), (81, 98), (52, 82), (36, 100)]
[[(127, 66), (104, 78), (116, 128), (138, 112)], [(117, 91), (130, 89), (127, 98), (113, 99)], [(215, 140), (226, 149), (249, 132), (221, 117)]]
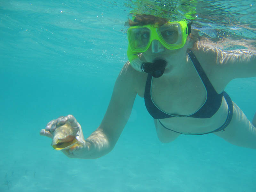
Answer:
[(76, 139), (78, 127), (72, 127), (69, 122), (56, 128), (52, 138), (52, 147), (56, 150), (75, 148), (80, 146), (80, 142)]

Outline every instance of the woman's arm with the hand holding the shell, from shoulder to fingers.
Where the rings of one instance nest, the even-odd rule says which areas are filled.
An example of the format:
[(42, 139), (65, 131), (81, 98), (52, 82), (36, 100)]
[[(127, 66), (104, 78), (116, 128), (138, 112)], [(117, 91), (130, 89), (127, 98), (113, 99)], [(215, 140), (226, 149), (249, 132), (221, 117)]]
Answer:
[[(94, 159), (106, 155), (114, 148), (132, 111), (137, 95), (138, 78), (136, 76), (138, 76), (138, 73), (129, 63), (124, 65), (116, 79), (108, 109), (100, 126), (86, 140), (84, 140), (80, 124), (76, 122), (73, 116), (62, 117), (64, 120), (58, 121), (61, 124), (72, 121), (71, 124), (80, 127), (79, 131), (81, 133), (78, 131), (77, 140), (83, 143), (83, 147), (63, 149), (65, 155), (71, 158)], [(51, 137), (50, 134), (55, 129), (56, 122), (50, 122), (40, 133)]]

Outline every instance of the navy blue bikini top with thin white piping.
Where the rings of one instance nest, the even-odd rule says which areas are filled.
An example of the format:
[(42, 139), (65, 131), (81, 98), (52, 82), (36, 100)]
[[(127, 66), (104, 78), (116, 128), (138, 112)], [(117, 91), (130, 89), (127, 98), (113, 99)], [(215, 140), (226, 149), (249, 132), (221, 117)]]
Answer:
[[(190, 60), (192, 61), (199, 77), (201, 78), (204, 87), (206, 89), (206, 101), (204, 102), (203, 106), (197, 110), (194, 114), (188, 115), (186, 117), (194, 117), (194, 118), (210, 118), (212, 117), (217, 110), (220, 108), (220, 104), (222, 101), (223, 92), (218, 94), (214, 87), (212, 86), (211, 82), (209, 81), (208, 77), (206, 76), (203, 68), (201, 67), (200, 63), (196, 59), (196, 56), (194, 53), (188, 49), (188, 56)], [(168, 113), (165, 113), (164, 111), (160, 110), (156, 105), (154, 104), (152, 97), (151, 97), (151, 83), (152, 83), (152, 76), (148, 74), (146, 87), (145, 87), (145, 93), (144, 93), (144, 100), (146, 108), (149, 112), (149, 114), (154, 119), (165, 119), (170, 117), (180, 117), (182, 115), (171, 115)], [(170, 98), (172, 99), (172, 98)]]

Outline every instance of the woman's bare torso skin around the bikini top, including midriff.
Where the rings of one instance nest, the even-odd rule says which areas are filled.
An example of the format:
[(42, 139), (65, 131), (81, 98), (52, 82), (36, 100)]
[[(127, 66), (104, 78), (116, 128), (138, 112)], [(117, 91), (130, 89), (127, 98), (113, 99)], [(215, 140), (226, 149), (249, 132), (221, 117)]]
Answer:
[[(228, 81), (222, 79), (219, 83), (218, 66), (211, 63), (211, 59), (203, 57), (203, 52), (194, 52), (206, 75), (220, 93), (224, 90)], [(212, 58), (213, 59), (213, 58)], [(144, 96), (147, 74), (141, 76), (138, 94)], [(179, 76), (168, 75), (163, 78), (153, 78), (152, 99), (156, 106), (168, 114), (189, 115), (195, 113), (206, 99), (206, 90), (193, 64), (188, 60), (184, 67), (184, 73)], [(161, 119), (166, 127), (182, 133), (211, 132), (220, 127), (226, 120), (228, 106), (225, 99), (222, 100), (219, 110), (211, 118), (172, 117)]]

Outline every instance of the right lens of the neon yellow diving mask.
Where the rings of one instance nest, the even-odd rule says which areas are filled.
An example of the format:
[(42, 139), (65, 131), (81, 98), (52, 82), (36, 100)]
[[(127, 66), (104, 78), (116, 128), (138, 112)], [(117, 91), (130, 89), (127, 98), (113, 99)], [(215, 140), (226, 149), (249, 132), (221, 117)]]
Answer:
[(177, 45), (182, 43), (182, 32), (179, 23), (163, 25), (159, 28), (159, 32), (166, 44)]

